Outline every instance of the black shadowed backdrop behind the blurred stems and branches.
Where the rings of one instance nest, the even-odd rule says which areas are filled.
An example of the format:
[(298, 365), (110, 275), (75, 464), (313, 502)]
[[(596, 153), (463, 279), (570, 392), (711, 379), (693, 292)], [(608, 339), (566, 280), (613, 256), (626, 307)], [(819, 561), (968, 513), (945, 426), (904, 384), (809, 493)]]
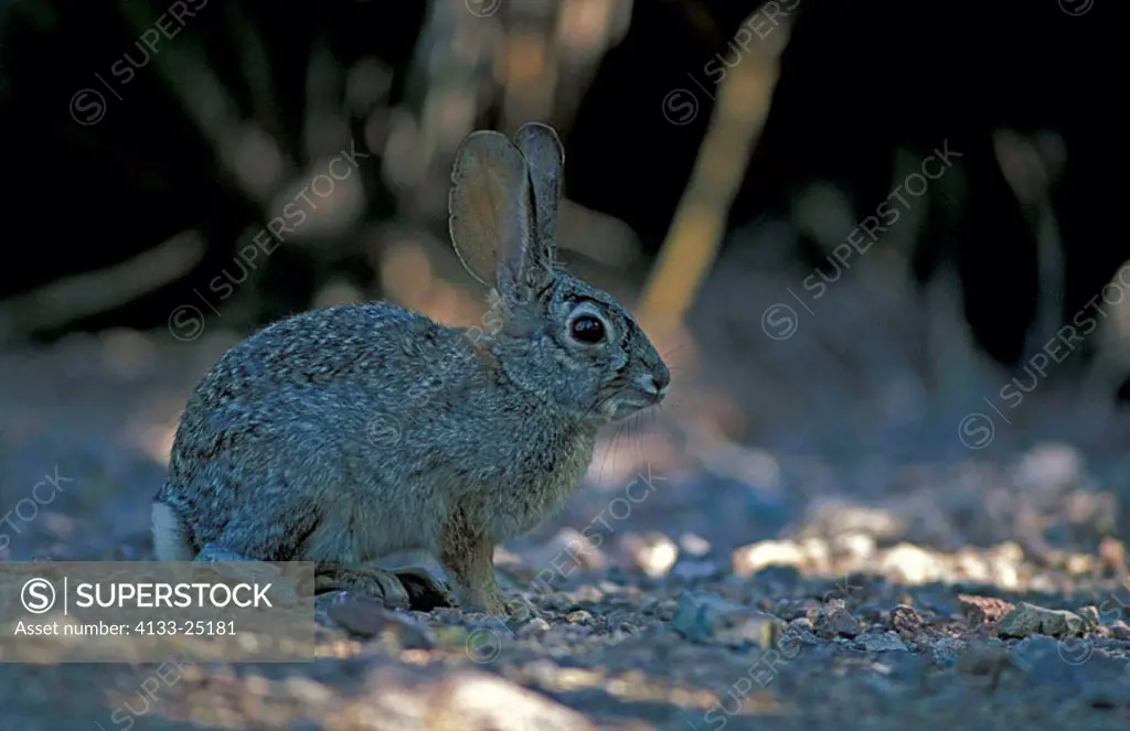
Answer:
[[(612, 23), (601, 12), (631, 15), (623, 18), (623, 36), (602, 41), (590, 28), (593, 37), (577, 46), (583, 53), (553, 43), (568, 23), (576, 24), (572, 33), (586, 32), (555, 3), (502, 2), (489, 17), (476, 18), (455, 1), (447, 5), (464, 17), (450, 20), (434, 19), (428, 7), (434, 5), (282, 8), (186, 0), (195, 15), (172, 12), (168, 19), (175, 7), (163, 3), (9, 3), (0, 20), (0, 139), (7, 146), (12, 216), (0, 276), (7, 337), (163, 327), (192, 282), (208, 280), (231, 261), (246, 229), (270, 218), (270, 193), (277, 192), (271, 189), (312, 164), (307, 140), (320, 133), (320, 124), (334, 130), (327, 139), (346, 129), (367, 134), (376, 164), (362, 171), (365, 204), (334, 234), (303, 247), (282, 246), (254, 272), (254, 295), (251, 288), (241, 295), (250, 301), (244, 302), (249, 324), (311, 306), (318, 289), (336, 277), (366, 296), (382, 296), (380, 256), (360, 233), (366, 227), (399, 218), (442, 234), (441, 197), (427, 206), (412, 200), (433, 188), (398, 186), (382, 174), (382, 160), (395, 154), (389, 148), (406, 140), (391, 130), (440, 130), (443, 137), (421, 153), (420, 165), (442, 171), (452, 142), (470, 127), (512, 130), (523, 121), (513, 110), (523, 104), (562, 131), (570, 199), (627, 224), (646, 266), (662, 244), (712, 111), (711, 99), (692, 86), (699, 112), (689, 124), (675, 125), (664, 119), (662, 99), (688, 85), (688, 72), (710, 84), (702, 69), (714, 53), (739, 58), (727, 43), (760, 3), (596, 2), (590, 15), (605, 33), (618, 28), (602, 28), (601, 20)], [(472, 3), (480, 11), (489, 5)], [(1059, 232), (1054, 277), (1061, 291), (1052, 303), (1059, 316), (1077, 312), (1128, 254), (1125, 237), (1112, 235), (1109, 226), (1116, 185), (1101, 169), (1118, 147), (1116, 118), (1103, 106), (1113, 95), (1095, 88), (1103, 69), (1115, 68), (1112, 46), (1097, 42), (1102, 14), (1071, 17), (1051, 0), (981, 3), (957, 15), (941, 2), (793, 5), (796, 25), (780, 82), (729, 210), (730, 233), (766, 217), (788, 219), (798, 192), (812, 181), (834, 184), (862, 218), (890, 190), (897, 150), (929, 149), (947, 139), (965, 153), (962, 184), (922, 226), (911, 253), (913, 275), (928, 279), (940, 263), (953, 262), (977, 343), (1002, 363), (1017, 364), (1040, 298), (1037, 246), (1031, 211), (994, 154), (994, 132), (1008, 129), (1035, 139), (1034, 149), (1044, 153), (1036, 167), (1055, 168), (1041, 193)], [(134, 42), (163, 11), (175, 36), (160, 37), (146, 53), (144, 43), (139, 49)], [(184, 18), (183, 28), (176, 15)], [(472, 85), (467, 89), (472, 108), (443, 121), (424, 119), (428, 95), (444, 94), (444, 79), (429, 79), (424, 70), (429, 40), (423, 33), (429, 23), (459, 24), (440, 33), (481, 33), (494, 44), (505, 43), (496, 34), (549, 40), (549, 68), (541, 79), (548, 99), (504, 110), (505, 72), (496, 59), (480, 59), (478, 68), (461, 71)], [(111, 68), (127, 53), (141, 68), (123, 81)], [(372, 73), (359, 80), (358, 68)], [(121, 101), (96, 73), (115, 85)], [(524, 93), (520, 81), (510, 82), (518, 96)], [(88, 125), (76, 123), (68, 107), (86, 87), (107, 99), (105, 118)], [(202, 99), (217, 97), (224, 108), (202, 128), (185, 107), (200, 111)], [(238, 147), (249, 128), (254, 139), (269, 140), (286, 171), (258, 197), (233, 173), (234, 153), (223, 149)], [(244, 155), (254, 158), (251, 136), (243, 143)], [(16, 225), (19, 219), (31, 225)], [(20, 295), (120, 264), (185, 230), (202, 236), (200, 255), (150, 273), (150, 281), (145, 267), (130, 270), (130, 295), (94, 296), (71, 307), (53, 303), (51, 315), (16, 307), (34, 307), (26, 304), (34, 299)], [(724, 245), (751, 244), (727, 236)], [(798, 235), (790, 254), (817, 266), (827, 252)]]

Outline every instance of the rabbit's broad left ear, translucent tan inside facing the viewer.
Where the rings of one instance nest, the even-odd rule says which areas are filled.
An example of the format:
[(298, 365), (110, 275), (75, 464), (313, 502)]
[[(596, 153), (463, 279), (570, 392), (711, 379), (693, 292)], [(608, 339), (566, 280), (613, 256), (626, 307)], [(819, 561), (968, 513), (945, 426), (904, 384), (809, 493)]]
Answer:
[(525, 160), (505, 134), (471, 132), (455, 153), (451, 182), (447, 226), (455, 253), (479, 282), (505, 294), (503, 262), (521, 261), (532, 235)]

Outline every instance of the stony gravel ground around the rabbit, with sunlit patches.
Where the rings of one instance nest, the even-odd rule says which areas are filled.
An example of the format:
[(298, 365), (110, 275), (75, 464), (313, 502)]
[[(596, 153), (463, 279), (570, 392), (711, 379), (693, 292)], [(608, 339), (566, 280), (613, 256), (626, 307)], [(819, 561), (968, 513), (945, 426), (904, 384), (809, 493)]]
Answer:
[[(0, 523), (0, 559), (148, 559), (179, 410), (229, 342), (0, 357), (0, 508), (58, 485)], [(1130, 728), (1102, 460), (1046, 442), (828, 462), (727, 442), (704, 399), (673, 401), (499, 549), (539, 617), (325, 595), (312, 663), (0, 664), (0, 731)]]

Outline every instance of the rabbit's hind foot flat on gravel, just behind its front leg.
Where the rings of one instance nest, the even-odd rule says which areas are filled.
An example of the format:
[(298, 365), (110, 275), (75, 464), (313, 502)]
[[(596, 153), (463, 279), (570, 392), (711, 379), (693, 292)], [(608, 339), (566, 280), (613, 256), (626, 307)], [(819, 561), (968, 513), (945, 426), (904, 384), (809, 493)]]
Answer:
[(389, 571), (368, 566), (346, 566), (318, 562), (314, 568), (314, 591), (351, 591), (381, 599), (393, 609), (431, 611), (450, 607), (443, 584), (420, 568)]

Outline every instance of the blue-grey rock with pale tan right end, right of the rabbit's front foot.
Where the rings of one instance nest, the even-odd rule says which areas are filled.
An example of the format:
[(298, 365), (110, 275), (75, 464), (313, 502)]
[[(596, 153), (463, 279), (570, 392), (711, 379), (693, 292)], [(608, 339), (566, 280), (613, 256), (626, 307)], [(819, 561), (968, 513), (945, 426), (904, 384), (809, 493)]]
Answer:
[(671, 626), (692, 642), (749, 643), (773, 647), (784, 623), (773, 615), (728, 601), (716, 594), (687, 592), (679, 599)]

